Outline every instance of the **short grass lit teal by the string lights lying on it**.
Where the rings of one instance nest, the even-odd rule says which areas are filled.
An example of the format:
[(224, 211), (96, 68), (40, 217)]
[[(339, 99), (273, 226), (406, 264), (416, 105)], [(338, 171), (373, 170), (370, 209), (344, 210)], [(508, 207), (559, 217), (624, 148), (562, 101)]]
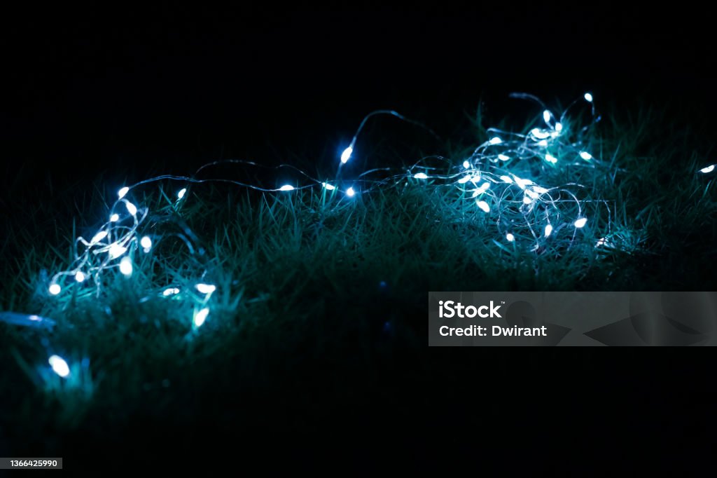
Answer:
[[(131, 280), (112, 278), (101, 299), (51, 298), (42, 271), (67, 266), (72, 238), (100, 223), (108, 195), (100, 179), (84, 197), (68, 189), (67, 200), (29, 200), (4, 217), (0, 309), (57, 325), (0, 323), (0, 456), (141, 452), (168, 435), (191, 449), (202, 430), (236, 435), (262, 426), (267, 413), (300, 429), (349, 407), (356, 417), (371, 417), (372, 406), (401, 416), (408, 390), (423, 395), (452, 373), (459, 386), (457, 369), (500, 356), (494, 369), (510, 370), (506, 352), (427, 360), (427, 291), (715, 289), (706, 266), (717, 259), (715, 176), (695, 174), (715, 161), (698, 133), (665, 115), (615, 113), (591, 139), (609, 168), (583, 179), (609, 201), (595, 213), (619, 244), (602, 252), (597, 227), (541, 254), (499, 247), (455, 189), (417, 181), (353, 200), (198, 184), (179, 212), (171, 188), (148, 190), (142, 204), (186, 221), (203, 255), (168, 240)], [(472, 141), (451, 156), (462, 158)], [(147, 293), (199, 280), (218, 287), (200, 329), (191, 326), (194, 301)], [(52, 353), (70, 362), (69, 379), (47, 371)]]

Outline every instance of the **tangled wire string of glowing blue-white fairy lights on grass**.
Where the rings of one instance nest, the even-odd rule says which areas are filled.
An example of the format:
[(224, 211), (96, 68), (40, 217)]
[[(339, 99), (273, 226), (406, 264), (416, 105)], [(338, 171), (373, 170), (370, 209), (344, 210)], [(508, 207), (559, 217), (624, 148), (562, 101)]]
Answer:
[[(485, 215), (486, 219), (493, 222), (497, 228), (496, 233), (499, 240), (505, 240), (513, 247), (524, 245), (530, 250), (536, 251), (547, 245), (549, 241), (557, 240), (556, 236), (566, 235), (568, 238), (574, 238), (577, 230), (584, 228), (589, 223), (589, 218), (585, 215), (584, 200), (579, 200), (575, 192), (575, 189), (581, 189), (581, 187), (577, 184), (545, 184), (544, 182), (548, 179), (543, 178), (549, 178), (549, 174), (543, 173), (548, 173), (556, 167), (594, 167), (599, 160), (587, 151), (581, 141), (574, 141), (569, 127), (569, 118), (566, 116), (567, 110), (560, 116), (556, 116), (531, 95), (513, 96), (536, 100), (543, 106), (542, 114), (539, 117), (542, 122), (538, 121), (538, 126), (531, 128), (527, 133), (499, 131), (491, 128), (488, 130), (488, 141), (478, 146), (473, 154), (460, 163), (452, 164), (447, 173), (432, 174), (431, 169), (425, 168), (419, 172), (409, 171), (397, 174), (390, 177), (389, 180), (398, 182), (412, 178), (422, 182), (432, 180), (436, 183), (453, 185), (460, 194), (470, 199), (471, 204), (475, 204), (475, 210), (479, 211), (479, 214)], [(585, 93), (582, 99), (589, 105), (592, 112), (592, 123), (599, 121), (599, 117), (595, 116), (592, 93)], [(574, 102), (569, 108), (579, 103), (579, 101)], [(366, 121), (371, 116), (379, 114), (396, 116), (403, 121), (422, 126), (430, 133), (435, 134), (424, 125), (405, 118), (395, 111), (374, 111), (364, 118), (353, 136), (351, 144), (341, 152), (339, 171), (353, 158), (357, 138)], [(584, 129), (582, 128), (582, 131)], [(207, 164), (201, 167), (197, 173), (205, 167), (219, 164), (219, 162)], [(253, 164), (236, 160), (230, 162)], [(713, 172), (716, 167), (716, 164), (712, 164), (700, 169), (699, 172), (708, 174)], [(313, 184), (302, 187), (284, 184), (277, 189), (264, 189), (228, 179), (197, 179), (196, 176), (166, 175), (147, 179), (132, 187), (122, 187), (118, 190), (117, 199), (110, 209), (108, 220), (100, 226), (97, 233), (90, 240), (77, 238), (76, 243), (80, 251), (67, 271), (61, 271), (52, 277), (48, 288), (49, 294), (58, 296), (70, 287), (87, 289), (87, 287), (94, 286), (99, 295), (103, 285), (103, 273), (114, 268), (117, 268), (120, 274), (126, 278), (133, 276), (138, 256), (150, 254), (156, 240), (160, 239), (141, 233), (143, 223), (148, 217), (148, 210), (137, 207), (128, 200), (130, 192), (141, 184), (161, 179), (179, 180), (187, 184), (229, 182), (264, 192), (292, 192), (318, 186), (332, 193), (343, 194), (347, 198), (370, 190), (370, 188), (361, 189), (361, 191), (355, 189), (357, 188), (355, 181), (346, 184), (344, 188), (345, 183), (338, 177), (332, 183), (313, 179), (304, 172), (301, 174), (309, 178)], [(362, 174), (361, 177), (363, 176)], [(376, 184), (386, 184), (386, 182), (387, 180), (384, 179)], [(183, 187), (176, 193), (178, 204), (184, 200), (186, 192), (187, 188)], [(597, 242), (596, 247), (607, 245), (609, 245), (608, 241), (603, 238)], [(217, 287), (209, 283), (196, 283), (194, 290), (199, 295), (191, 289), (182, 290), (174, 285), (164, 286), (158, 295), (165, 298), (179, 295), (192, 297), (195, 308), (191, 323), (194, 329), (198, 329), (209, 317), (210, 299)], [(52, 355), (49, 357), (49, 365), (62, 378), (70, 375), (70, 367), (62, 357)]]

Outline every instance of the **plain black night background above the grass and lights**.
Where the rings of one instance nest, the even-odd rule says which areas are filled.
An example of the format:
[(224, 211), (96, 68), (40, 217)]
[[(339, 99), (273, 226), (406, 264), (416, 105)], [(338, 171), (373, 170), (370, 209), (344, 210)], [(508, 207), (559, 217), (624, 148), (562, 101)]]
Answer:
[(487, 121), (515, 113), (516, 90), (563, 103), (592, 90), (626, 111), (677, 101), (708, 120), (706, 12), (576, 5), (9, 9), (1, 154), (55, 185), (228, 157), (336, 161), (375, 108), (451, 137), (480, 100)]

